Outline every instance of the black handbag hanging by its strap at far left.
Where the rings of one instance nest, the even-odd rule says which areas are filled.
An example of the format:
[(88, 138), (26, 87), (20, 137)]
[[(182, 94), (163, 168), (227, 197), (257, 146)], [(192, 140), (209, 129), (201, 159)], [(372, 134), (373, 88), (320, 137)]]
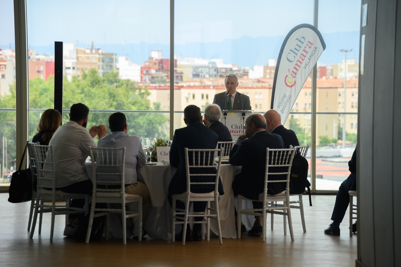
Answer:
[(32, 199), (32, 176), (30, 168), (21, 170), (27, 146), (28, 144), (26, 144), (24, 154), (22, 154), (18, 171), (14, 172), (11, 177), (10, 189), (8, 191), (8, 202), (11, 203), (26, 202)]

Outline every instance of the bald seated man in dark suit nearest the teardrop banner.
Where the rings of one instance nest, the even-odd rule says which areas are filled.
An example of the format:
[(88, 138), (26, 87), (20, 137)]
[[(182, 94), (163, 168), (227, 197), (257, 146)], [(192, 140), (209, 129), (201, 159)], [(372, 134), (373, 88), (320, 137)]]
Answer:
[(284, 146), (290, 148), (292, 146), (299, 146), (298, 138), (293, 130), (286, 129), (281, 124), (281, 116), (274, 109), (270, 109), (263, 114), (266, 119), (266, 130), (270, 134), (278, 134), (283, 138)]

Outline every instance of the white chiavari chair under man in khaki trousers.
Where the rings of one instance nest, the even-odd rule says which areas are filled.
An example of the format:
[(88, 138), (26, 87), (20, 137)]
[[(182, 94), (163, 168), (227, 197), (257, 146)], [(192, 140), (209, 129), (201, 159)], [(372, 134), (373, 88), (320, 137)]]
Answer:
[[(109, 234), (109, 213), (122, 213), (123, 244), (127, 244), (126, 218), (138, 218), (138, 240), (142, 241), (142, 196), (125, 193), (124, 167), (126, 147), (92, 148), (88, 147), (92, 160), (92, 207), (85, 243), (89, 243), (93, 218), (107, 215), (106, 240)], [(119, 185), (118, 189), (97, 188), (97, 184)], [(138, 211), (126, 210), (126, 203), (138, 202)], [(107, 203), (107, 208), (95, 208), (96, 203)], [(110, 203), (121, 204), (121, 208), (109, 208)], [(100, 211), (95, 213), (95, 211)]]

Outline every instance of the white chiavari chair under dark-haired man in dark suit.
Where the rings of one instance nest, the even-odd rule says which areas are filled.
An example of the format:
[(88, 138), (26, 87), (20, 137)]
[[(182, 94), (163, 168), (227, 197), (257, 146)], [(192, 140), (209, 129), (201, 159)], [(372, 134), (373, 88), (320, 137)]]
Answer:
[[(192, 162), (189, 165), (188, 152), (192, 152)], [(207, 153), (208, 152), (208, 153)], [(214, 153), (220, 152), (219, 162), (217, 166), (214, 164)], [(220, 245), (223, 245), (223, 239), (221, 236), (220, 227), (220, 214), (219, 214), (219, 177), (221, 168), (221, 158), (224, 152), (224, 148), (221, 149), (188, 149), (185, 148), (185, 168), (186, 168), (186, 192), (182, 194), (172, 195), (172, 241), (175, 241), (175, 225), (184, 224), (182, 245), (185, 245), (186, 228), (188, 223), (206, 223), (207, 224), (207, 241), (209, 241), (210, 236), (210, 218), (217, 220), (217, 229), (219, 231), (219, 241)], [(191, 174), (190, 168), (216, 168), (216, 174)], [(215, 182), (191, 182), (191, 176), (215, 176)], [(214, 184), (215, 190), (210, 193), (192, 193), (191, 184)], [(176, 200), (180, 200), (185, 203), (185, 210), (176, 208)], [(189, 202), (192, 201), (207, 201), (207, 208), (204, 212), (188, 212)], [(215, 208), (210, 207), (210, 202), (214, 202)], [(211, 211), (215, 214), (211, 214)], [(183, 215), (184, 218), (176, 215)], [(205, 217), (206, 221), (190, 221), (188, 222), (188, 217)], [(176, 221), (179, 219), (180, 221)], [(182, 221), (184, 219), (184, 221)]]

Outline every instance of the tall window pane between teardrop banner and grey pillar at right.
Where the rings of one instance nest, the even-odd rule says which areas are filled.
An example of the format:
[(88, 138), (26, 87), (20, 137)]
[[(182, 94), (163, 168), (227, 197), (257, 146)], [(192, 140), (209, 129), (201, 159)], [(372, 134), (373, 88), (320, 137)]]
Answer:
[[(335, 5), (332, 1), (319, 1), (319, 30), (326, 50), (317, 68), (317, 190), (338, 190), (350, 174), (348, 161), (358, 133), (360, 8), (358, 1), (340, 1)], [(350, 51), (346, 59), (345, 52), (340, 50)]]

